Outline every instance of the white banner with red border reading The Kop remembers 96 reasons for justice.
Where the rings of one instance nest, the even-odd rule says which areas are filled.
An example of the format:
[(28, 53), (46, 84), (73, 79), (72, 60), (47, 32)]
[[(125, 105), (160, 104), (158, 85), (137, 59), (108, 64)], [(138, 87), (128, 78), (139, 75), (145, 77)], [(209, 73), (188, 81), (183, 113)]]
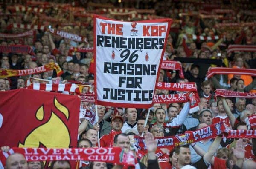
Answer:
[(151, 107), (171, 23), (94, 16), (96, 104)]

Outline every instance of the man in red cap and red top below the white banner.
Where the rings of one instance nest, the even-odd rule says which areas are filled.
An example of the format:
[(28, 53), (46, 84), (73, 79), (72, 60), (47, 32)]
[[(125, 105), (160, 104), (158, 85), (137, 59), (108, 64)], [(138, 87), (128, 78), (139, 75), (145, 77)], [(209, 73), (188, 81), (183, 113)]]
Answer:
[(122, 133), (121, 129), (123, 126), (123, 122), (124, 120), (122, 116), (113, 116), (110, 123), (110, 126), (112, 128), (111, 132), (108, 135), (103, 135), (99, 140), (101, 147), (113, 147), (115, 135)]

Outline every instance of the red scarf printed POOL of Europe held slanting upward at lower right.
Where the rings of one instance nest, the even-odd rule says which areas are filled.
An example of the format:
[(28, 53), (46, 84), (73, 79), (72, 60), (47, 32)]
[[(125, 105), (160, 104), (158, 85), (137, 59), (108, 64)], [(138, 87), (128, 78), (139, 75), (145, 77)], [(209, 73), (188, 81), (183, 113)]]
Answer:
[[(173, 148), (183, 144), (189, 144), (198, 142), (201, 140), (215, 138), (218, 135), (226, 132), (226, 127), (223, 122), (215, 123), (210, 126), (204, 127), (195, 131), (187, 131), (185, 134), (171, 136), (171, 137), (159, 137), (157, 140), (158, 148)], [(145, 146), (145, 140), (143, 137), (134, 136), (135, 145), (139, 150), (147, 149)]]

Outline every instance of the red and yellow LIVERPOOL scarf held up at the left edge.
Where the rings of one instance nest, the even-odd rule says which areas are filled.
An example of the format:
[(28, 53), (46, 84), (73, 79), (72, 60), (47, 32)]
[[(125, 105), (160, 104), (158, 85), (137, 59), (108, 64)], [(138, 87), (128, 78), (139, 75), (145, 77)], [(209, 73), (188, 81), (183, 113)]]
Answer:
[(26, 76), (29, 74), (38, 74), (43, 72), (48, 72), (52, 69), (55, 69), (58, 75), (61, 75), (63, 72), (59, 68), (59, 66), (55, 65), (55, 63), (49, 63), (40, 67), (36, 67), (33, 69), (1, 69), (0, 70), (0, 78), (12, 77), (12, 76)]

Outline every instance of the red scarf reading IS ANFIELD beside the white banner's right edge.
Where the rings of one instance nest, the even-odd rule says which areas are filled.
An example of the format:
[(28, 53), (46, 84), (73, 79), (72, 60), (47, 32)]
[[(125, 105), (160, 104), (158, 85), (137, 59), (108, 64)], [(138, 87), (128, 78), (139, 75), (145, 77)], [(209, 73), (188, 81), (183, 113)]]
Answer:
[(186, 91), (186, 92), (196, 92), (197, 88), (195, 86), (195, 82), (188, 83), (165, 83), (158, 82), (157, 89), (165, 89), (165, 90), (174, 90), (174, 91)]

